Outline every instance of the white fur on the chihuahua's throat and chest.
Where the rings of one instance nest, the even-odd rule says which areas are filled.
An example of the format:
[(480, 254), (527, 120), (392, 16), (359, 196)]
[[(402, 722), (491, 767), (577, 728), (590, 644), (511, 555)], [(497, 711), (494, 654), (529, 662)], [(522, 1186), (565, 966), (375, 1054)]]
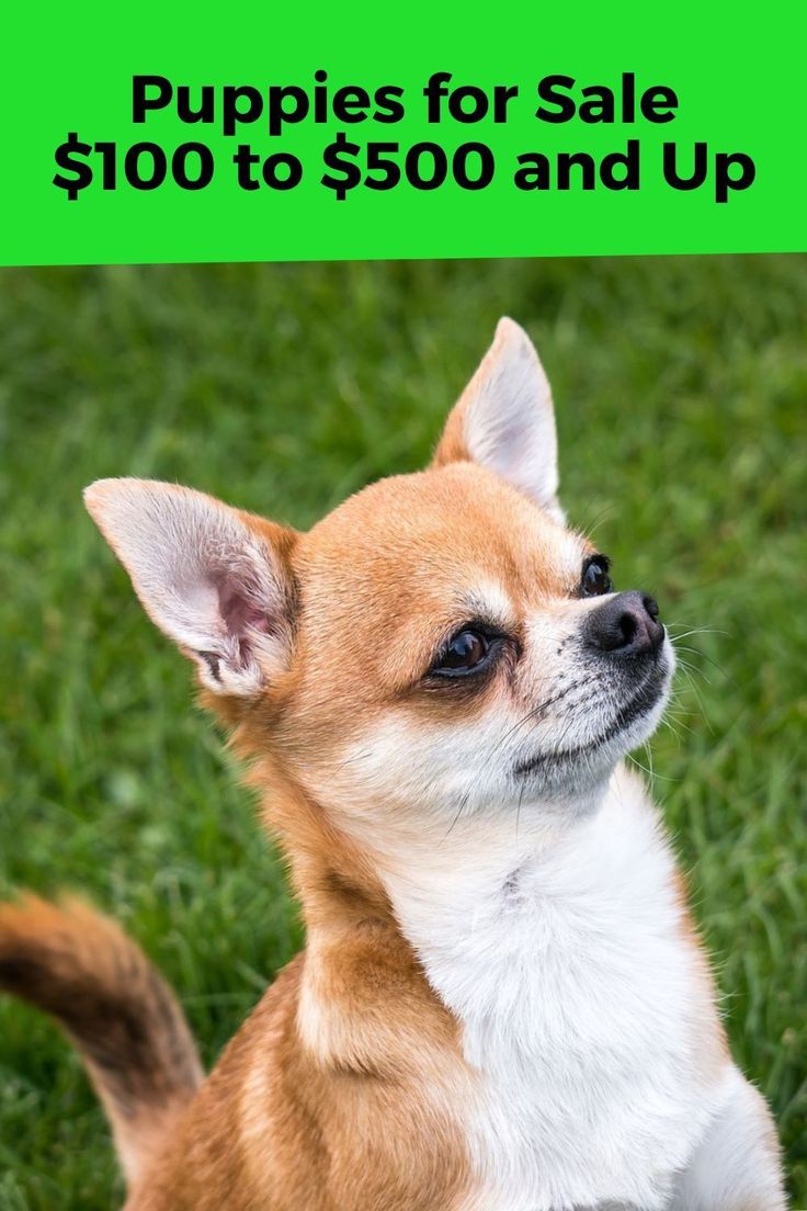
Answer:
[(728, 1069), (656, 811), (621, 770), (552, 838), (486, 828), (388, 879), (479, 1073), (467, 1211), (657, 1211)]

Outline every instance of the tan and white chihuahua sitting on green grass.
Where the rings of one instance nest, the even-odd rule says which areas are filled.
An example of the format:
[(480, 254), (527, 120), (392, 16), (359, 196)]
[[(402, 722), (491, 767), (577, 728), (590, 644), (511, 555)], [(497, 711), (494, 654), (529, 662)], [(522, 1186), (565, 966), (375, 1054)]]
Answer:
[(0, 911), (128, 1211), (780, 1211), (658, 814), (621, 759), (674, 655), (558, 503), (511, 320), (428, 470), (306, 534), (186, 488), (87, 507), (253, 763), (307, 946), (202, 1081), (173, 997), (76, 902)]

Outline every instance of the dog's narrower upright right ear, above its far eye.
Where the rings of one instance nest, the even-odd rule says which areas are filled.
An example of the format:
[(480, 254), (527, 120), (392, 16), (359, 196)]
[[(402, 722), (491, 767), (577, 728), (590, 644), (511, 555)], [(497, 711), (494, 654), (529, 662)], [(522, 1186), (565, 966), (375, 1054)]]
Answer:
[(494, 343), (451, 411), (434, 465), (486, 466), (563, 521), (552, 391), (535, 345), (498, 321)]

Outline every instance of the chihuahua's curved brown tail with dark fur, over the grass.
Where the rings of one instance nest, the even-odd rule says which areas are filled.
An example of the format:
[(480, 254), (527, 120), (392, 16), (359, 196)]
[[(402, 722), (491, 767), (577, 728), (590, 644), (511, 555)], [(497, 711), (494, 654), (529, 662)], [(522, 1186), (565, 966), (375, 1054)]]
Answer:
[(75, 1044), (131, 1186), (202, 1081), (173, 994), (109, 918), (31, 895), (0, 905), (0, 989), (51, 1014)]

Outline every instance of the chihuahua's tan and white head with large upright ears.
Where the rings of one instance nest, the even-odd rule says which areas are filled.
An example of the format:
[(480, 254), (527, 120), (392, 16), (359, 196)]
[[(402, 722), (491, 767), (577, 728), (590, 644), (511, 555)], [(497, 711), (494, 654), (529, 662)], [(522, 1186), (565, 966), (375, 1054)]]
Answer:
[(186, 488), (108, 480), (93, 518), (208, 701), (347, 822), (567, 805), (662, 714), (645, 593), (558, 503), (549, 385), (502, 320), (432, 465), (300, 534)]

